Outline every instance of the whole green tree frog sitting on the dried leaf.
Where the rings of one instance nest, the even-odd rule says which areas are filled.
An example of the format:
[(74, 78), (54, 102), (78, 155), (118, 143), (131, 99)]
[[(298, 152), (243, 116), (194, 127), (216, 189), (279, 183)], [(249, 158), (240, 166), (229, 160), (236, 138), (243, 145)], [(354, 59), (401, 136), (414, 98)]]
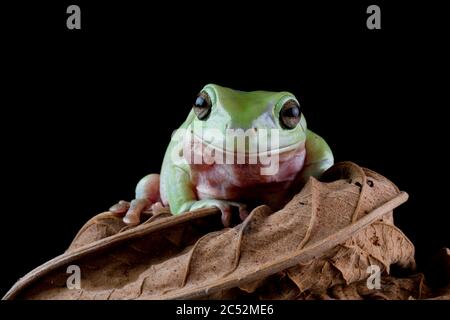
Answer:
[(131, 203), (111, 212), (136, 225), (147, 209), (172, 214), (217, 207), (229, 226), (259, 204), (280, 209), (310, 176), (333, 165), (330, 147), (307, 129), (297, 98), (289, 92), (243, 92), (206, 85), (172, 136), (161, 173), (144, 177)]

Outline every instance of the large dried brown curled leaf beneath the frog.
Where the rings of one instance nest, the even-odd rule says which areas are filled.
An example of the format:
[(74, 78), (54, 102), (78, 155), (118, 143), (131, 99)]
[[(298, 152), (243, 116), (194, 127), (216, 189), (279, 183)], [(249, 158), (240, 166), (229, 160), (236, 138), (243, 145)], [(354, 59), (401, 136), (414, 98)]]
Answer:
[[(392, 209), (403, 201), (389, 180), (345, 162), (324, 182), (311, 178), (282, 210), (260, 206), (234, 228), (221, 229), (214, 209), (162, 214), (130, 230), (105, 213), (7, 297), (326, 297), (331, 288), (362, 281), (372, 263), (386, 271), (393, 263), (413, 265), (412, 244), (393, 226)], [(65, 287), (69, 264), (82, 270), (80, 290)]]

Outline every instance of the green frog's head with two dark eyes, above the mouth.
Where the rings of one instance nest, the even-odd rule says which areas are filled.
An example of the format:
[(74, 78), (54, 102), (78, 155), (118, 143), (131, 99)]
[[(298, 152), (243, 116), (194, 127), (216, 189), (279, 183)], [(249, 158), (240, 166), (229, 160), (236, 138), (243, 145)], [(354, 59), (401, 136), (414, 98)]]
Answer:
[[(243, 92), (208, 84), (195, 99), (187, 123), (203, 132), (214, 130), (223, 137), (230, 129), (244, 132), (265, 129), (269, 135), (276, 130), (278, 150), (271, 148), (271, 152), (297, 149), (306, 140), (306, 120), (300, 103), (293, 94), (284, 91)], [(232, 151), (221, 139), (202, 140), (214, 148)]]

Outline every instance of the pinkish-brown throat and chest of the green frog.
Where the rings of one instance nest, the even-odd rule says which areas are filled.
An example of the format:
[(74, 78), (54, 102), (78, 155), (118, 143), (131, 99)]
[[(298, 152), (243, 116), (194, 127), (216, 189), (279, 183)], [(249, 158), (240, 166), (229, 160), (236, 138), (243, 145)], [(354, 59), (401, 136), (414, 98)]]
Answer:
[(304, 144), (279, 155), (278, 170), (262, 175), (261, 164), (191, 164), (191, 180), (199, 199), (223, 199), (268, 204), (276, 209), (305, 163)]

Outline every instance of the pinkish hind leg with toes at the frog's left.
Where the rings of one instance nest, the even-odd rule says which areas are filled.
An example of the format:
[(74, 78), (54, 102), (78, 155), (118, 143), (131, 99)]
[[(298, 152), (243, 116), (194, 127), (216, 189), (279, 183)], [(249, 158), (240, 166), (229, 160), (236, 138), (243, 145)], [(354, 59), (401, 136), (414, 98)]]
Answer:
[(128, 225), (137, 225), (141, 220), (141, 213), (154, 206), (161, 206), (159, 174), (149, 174), (142, 178), (136, 186), (136, 198), (131, 203), (119, 201), (109, 211), (123, 214), (123, 221)]

